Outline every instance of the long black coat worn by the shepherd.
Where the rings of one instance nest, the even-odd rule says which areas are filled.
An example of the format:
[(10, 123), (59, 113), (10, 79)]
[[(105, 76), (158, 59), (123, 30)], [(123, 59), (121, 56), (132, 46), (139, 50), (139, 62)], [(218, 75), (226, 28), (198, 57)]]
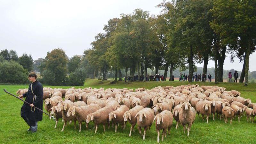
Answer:
[[(31, 91), (31, 84), (32, 84), (33, 92), (36, 95), (34, 102), (33, 102), (34, 95)], [(27, 101), (28, 103), (31, 104), (33, 102), (35, 107), (43, 110), (43, 94), (44, 92), (43, 92), (42, 84), (38, 81), (35, 81), (29, 84), (28, 92), (24, 93), (23, 97), (26, 97), (25, 101)], [(31, 107), (24, 102), (20, 110), (20, 116), (21, 117), (28, 116), (28, 118), (31, 120), (41, 121), (43, 119), (43, 112), (39, 111), (38, 109), (35, 109), (34, 112), (31, 112), (30, 108)], [(32, 108), (32, 110), (34, 110), (34, 108)], [(28, 115), (26, 113), (27, 111), (28, 111)]]

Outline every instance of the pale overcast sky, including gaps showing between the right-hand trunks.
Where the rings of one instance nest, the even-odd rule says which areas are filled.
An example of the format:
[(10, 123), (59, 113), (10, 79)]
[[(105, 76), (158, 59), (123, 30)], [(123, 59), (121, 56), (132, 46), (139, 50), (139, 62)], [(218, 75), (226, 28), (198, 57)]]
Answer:
[[(121, 13), (136, 8), (157, 15), (162, 0), (0, 0), (0, 50), (15, 50), (19, 56), (32, 54), (34, 60), (54, 48), (62, 48), (68, 57), (82, 55), (91, 47), (94, 36), (103, 32), (104, 24)], [(249, 70), (256, 70), (256, 54), (250, 57)], [(203, 64), (197, 64), (203, 67)], [(214, 67), (209, 61), (208, 68)], [(238, 59), (224, 69), (242, 70)]]

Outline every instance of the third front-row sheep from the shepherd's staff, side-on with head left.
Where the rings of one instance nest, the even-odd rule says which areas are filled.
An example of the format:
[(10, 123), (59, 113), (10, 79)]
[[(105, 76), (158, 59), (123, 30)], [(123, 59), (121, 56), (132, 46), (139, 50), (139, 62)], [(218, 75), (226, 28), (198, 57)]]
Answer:
[[(81, 132), (82, 122), (86, 121), (87, 115), (89, 113), (93, 113), (101, 107), (98, 104), (90, 104), (88, 106), (82, 107), (70, 107), (67, 112), (67, 116), (75, 116), (76, 120), (79, 122), (79, 132)], [(86, 124), (86, 128), (88, 128), (88, 124)]]

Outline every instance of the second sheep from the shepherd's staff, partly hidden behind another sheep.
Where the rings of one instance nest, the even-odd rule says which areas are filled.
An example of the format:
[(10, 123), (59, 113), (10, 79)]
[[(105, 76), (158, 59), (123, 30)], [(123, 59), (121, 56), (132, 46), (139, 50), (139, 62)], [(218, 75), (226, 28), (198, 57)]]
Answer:
[(62, 130), (61, 132), (64, 131), (64, 127), (66, 126), (67, 124), (67, 121), (71, 121), (71, 120), (74, 120), (74, 126), (75, 126), (75, 129), (76, 129), (76, 117), (75, 116), (67, 116), (67, 112), (68, 112), (68, 109), (72, 106), (76, 106), (76, 107), (81, 107), (81, 106), (86, 106), (86, 103), (83, 102), (83, 101), (76, 101), (76, 102), (62, 102), (61, 103), (61, 108), (60, 110), (62, 110), (62, 118), (64, 120), (64, 124), (63, 124), (63, 127), (62, 127)]

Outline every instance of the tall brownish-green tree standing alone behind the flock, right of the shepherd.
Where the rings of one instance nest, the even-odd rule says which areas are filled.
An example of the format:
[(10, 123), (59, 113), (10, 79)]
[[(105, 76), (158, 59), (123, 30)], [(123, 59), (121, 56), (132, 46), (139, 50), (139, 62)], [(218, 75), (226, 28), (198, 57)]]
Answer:
[(51, 85), (65, 85), (67, 76), (67, 63), (68, 57), (64, 50), (53, 49), (51, 52), (47, 52), (44, 58), (43, 70), (52, 75), (47, 75), (43, 71), (43, 78), (52, 79)]

